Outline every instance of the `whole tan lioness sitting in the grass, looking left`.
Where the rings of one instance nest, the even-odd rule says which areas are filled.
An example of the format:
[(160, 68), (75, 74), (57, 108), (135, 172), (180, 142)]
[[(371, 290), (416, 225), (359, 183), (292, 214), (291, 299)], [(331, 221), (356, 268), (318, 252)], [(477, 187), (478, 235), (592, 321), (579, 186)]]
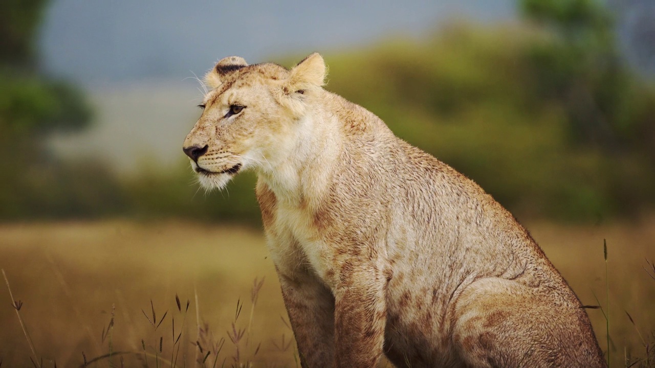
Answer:
[[(384, 77), (384, 76), (381, 76)], [(242, 170), (303, 367), (603, 367), (588, 316), (528, 232), (472, 180), (292, 69), (232, 56), (183, 151), (206, 188)]]

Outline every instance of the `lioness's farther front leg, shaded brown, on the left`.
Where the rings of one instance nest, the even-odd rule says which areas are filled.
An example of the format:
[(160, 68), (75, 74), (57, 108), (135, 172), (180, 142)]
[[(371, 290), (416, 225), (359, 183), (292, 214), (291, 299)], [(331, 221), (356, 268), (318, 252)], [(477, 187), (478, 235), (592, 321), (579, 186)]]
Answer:
[(334, 366), (334, 297), (316, 276), (290, 278), (278, 271), (303, 368)]

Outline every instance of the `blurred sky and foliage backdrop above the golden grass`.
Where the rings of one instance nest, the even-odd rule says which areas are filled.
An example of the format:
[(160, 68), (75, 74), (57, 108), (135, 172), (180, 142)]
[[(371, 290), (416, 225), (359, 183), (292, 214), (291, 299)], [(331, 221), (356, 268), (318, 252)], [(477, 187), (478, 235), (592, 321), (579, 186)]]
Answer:
[(519, 218), (604, 221), (655, 202), (652, 1), (5, 4), (2, 219), (257, 223), (252, 176), (229, 198), (196, 194), (180, 148), (195, 77), (232, 54), (290, 66), (313, 50), (327, 89)]

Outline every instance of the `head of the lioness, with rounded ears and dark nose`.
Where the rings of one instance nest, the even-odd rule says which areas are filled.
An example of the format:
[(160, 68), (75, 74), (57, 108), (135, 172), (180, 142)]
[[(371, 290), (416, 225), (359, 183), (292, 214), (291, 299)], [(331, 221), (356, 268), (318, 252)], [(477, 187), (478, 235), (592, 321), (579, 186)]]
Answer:
[(288, 70), (276, 64), (248, 65), (231, 56), (205, 76), (213, 88), (183, 151), (200, 184), (223, 188), (241, 170), (271, 171), (293, 150), (307, 98), (323, 84), (318, 54)]

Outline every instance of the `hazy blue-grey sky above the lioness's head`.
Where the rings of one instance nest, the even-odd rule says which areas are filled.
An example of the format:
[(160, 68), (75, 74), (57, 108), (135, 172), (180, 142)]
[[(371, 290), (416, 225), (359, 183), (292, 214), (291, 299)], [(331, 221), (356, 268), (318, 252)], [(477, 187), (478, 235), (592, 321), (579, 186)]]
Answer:
[(421, 35), (451, 18), (514, 16), (514, 0), (54, 0), (41, 30), (45, 69), (81, 83), (200, 75), (249, 62)]

